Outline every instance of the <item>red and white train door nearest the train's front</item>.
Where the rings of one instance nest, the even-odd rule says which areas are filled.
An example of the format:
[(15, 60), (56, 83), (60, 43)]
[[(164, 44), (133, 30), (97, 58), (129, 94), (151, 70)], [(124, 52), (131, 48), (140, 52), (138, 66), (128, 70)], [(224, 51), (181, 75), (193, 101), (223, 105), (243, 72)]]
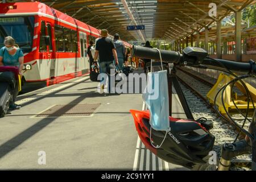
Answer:
[(40, 30), (40, 76), (41, 78), (55, 78), (55, 60), (52, 49), (52, 28), (49, 22), (42, 20)]

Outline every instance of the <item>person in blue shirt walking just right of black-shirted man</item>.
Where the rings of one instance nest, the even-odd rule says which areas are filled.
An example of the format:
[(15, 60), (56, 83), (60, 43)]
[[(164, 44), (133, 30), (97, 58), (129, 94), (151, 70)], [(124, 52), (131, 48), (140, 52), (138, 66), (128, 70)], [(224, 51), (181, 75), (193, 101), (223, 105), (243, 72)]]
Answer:
[(115, 44), (115, 50), (117, 51), (117, 57), (118, 57), (118, 70), (122, 71), (126, 50), (125, 50), (125, 46), (123, 45), (123, 42), (120, 40), (119, 34), (114, 35), (114, 44)]

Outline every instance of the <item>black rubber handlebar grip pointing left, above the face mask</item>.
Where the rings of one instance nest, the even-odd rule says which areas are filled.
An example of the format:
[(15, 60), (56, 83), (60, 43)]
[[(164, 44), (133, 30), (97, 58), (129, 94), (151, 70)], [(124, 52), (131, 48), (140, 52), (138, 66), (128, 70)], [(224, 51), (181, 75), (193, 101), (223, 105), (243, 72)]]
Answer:
[[(168, 63), (179, 63), (181, 57), (183, 57), (183, 55), (175, 51), (160, 50), (160, 53), (162, 60), (167, 61)], [(133, 45), (131, 55), (142, 59), (160, 60), (159, 52), (156, 49), (148, 47)]]

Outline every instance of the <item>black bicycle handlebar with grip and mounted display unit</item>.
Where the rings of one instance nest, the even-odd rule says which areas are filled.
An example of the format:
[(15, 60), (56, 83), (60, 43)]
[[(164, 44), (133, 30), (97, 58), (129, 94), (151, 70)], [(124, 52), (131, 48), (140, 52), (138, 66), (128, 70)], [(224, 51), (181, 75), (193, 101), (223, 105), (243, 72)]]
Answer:
[[(207, 52), (201, 48), (187, 47), (183, 50), (183, 55), (179, 52), (166, 50), (160, 50), (160, 53), (162, 60), (167, 63), (186, 64), (191, 67), (200, 67), (205, 69), (216, 68), (223, 71), (227, 68), (234, 72), (245, 74), (251, 73), (254, 76), (256, 75), (256, 64), (253, 60), (250, 60), (249, 63), (241, 63), (222, 59), (210, 59), (207, 57)], [(131, 55), (142, 59), (160, 60), (159, 52), (156, 49), (147, 47), (133, 46)]]

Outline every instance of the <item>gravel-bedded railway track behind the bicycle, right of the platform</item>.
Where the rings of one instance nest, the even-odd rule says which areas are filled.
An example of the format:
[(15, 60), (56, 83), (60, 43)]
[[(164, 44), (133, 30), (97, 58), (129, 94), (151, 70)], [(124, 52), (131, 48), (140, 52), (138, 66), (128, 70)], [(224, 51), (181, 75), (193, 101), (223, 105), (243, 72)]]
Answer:
[[(212, 105), (207, 101), (207, 93), (214, 85), (214, 78), (207, 80), (201, 76), (194, 75), (192, 72), (178, 68), (176, 73), (181, 89), (183, 90), (184, 96), (188, 102), (188, 106), (193, 113), (193, 117), (198, 119), (205, 117), (208, 120), (213, 121), (213, 129), (210, 130), (215, 136), (215, 143), (213, 150), (217, 152), (220, 158), (221, 146), (224, 143), (232, 143), (237, 137), (238, 129), (232, 125), (232, 123), (225, 122), (223, 119), (218, 117), (216, 111)], [(242, 125), (243, 117), (240, 114), (232, 115), (232, 117)], [(247, 130), (249, 123), (245, 125)], [(251, 155), (241, 155), (235, 159), (251, 160)]]

